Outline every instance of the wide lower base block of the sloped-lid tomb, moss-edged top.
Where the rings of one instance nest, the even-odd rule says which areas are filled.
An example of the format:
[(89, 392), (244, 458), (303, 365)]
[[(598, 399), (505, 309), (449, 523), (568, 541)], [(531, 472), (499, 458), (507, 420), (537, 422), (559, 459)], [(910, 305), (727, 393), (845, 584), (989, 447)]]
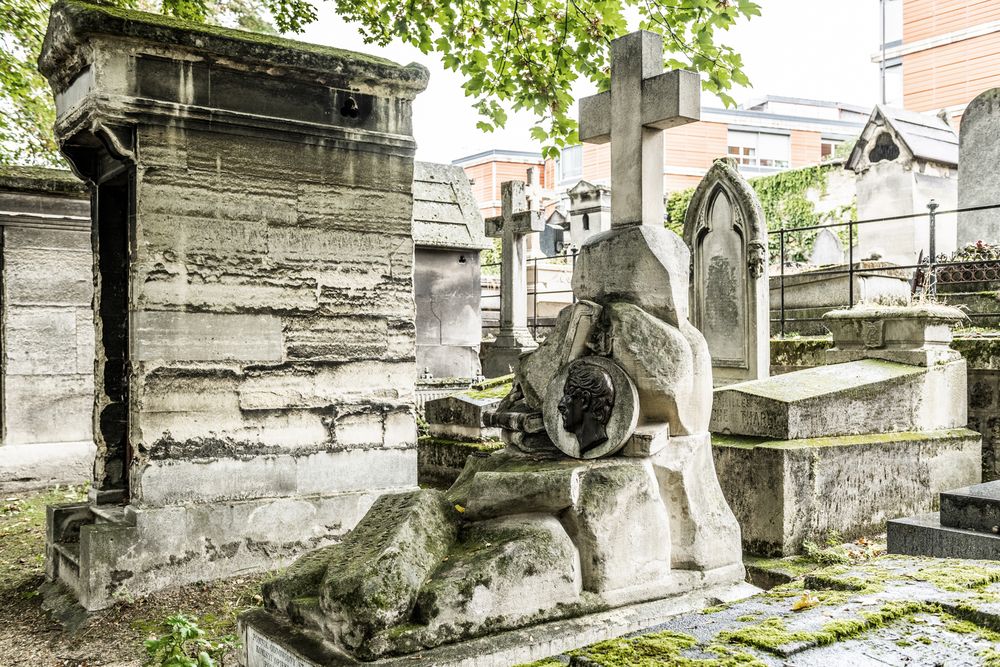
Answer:
[(806, 540), (822, 542), (834, 532), (845, 540), (881, 533), (888, 519), (930, 511), (941, 491), (980, 480), (981, 450), (982, 437), (967, 429), (713, 437), (719, 483), (743, 549), (762, 556), (799, 553)]

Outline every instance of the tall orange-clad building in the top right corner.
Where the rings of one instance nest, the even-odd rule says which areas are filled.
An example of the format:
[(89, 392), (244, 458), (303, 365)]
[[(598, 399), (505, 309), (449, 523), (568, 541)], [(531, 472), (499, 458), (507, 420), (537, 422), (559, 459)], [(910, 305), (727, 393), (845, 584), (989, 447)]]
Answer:
[(1000, 86), (1000, 1), (880, 0), (883, 103), (945, 111), (953, 127), (965, 105)]

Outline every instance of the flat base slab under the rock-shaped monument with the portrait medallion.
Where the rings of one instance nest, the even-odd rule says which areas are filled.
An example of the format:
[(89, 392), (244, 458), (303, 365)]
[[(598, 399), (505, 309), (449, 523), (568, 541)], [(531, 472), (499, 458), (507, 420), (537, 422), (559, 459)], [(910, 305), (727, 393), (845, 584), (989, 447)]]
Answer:
[[(421, 653), (366, 663), (334, 653), (311, 637), (300, 634), (289, 623), (257, 609), (240, 617), (239, 634), (245, 647), (241, 658), (246, 667), (340, 667), (356, 664), (377, 667), (510, 667), (636, 632), (661, 623), (674, 614), (743, 599), (758, 590), (745, 583), (705, 586), (663, 600), (541, 623)], [(285, 662), (276, 661), (272, 656), (278, 656)]]

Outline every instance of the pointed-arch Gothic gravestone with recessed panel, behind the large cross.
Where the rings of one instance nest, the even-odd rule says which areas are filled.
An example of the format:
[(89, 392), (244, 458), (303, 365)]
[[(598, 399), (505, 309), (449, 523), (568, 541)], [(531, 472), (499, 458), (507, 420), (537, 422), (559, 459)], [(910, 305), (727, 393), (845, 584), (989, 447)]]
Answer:
[(691, 249), (691, 321), (708, 341), (714, 383), (767, 377), (767, 224), (730, 160), (717, 160), (695, 189), (684, 241)]

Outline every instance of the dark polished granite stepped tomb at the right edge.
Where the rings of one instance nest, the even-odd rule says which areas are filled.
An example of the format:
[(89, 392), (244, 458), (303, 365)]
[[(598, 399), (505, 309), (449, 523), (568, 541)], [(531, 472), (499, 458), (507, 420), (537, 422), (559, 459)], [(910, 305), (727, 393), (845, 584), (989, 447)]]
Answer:
[(888, 551), (935, 558), (1000, 560), (1000, 480), (941, 494), (941, 510), (887, 526)]

